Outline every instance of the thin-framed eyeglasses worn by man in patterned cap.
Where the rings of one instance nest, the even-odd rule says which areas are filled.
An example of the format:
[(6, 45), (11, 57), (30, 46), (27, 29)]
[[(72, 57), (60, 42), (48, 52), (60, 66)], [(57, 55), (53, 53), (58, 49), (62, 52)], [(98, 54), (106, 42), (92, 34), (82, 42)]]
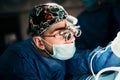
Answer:
[(65, 40), (70, 40), (74, 34), (70, 30), (61, 31), (55, 35), (43, 35), (43, 37), (55, 37), (56, 39), (64, 38)]

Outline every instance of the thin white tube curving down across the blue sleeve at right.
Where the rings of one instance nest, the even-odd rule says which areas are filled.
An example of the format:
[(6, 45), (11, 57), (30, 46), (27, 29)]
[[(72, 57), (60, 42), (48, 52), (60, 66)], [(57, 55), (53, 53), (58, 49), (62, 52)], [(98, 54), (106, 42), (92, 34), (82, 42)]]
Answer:
[[(91, 72), (92, 72), (92, 75), (93, 75), (93, 77), (95, 78), (95, 80), (98, 80), (98, 79), (96, 79), (96, 74), (94, 73), (94, 71), (93, 71), (93, 59), (94, 59), (94, 57), (97, 55), (97, 54), (99, 54), (99, 53), (102, 53), (102, 52), (105, 52), (109, 47), (110, 47), (111, 45), (109, 45), (108, 47), (106, 47), (106, 49), (103, 51), (103, 48), (102, 49), (100, 49), (100, 50), (98, 50), (93, 56), (92, 56), (92, 58), (91, 58), (91, 60), (90, 60), (90, 70), (91, 70)], [(99, 73), (99, 72), (98, 72)], [(99, 77), (99, 76), (98, 76)], [(90, 78), (91, 79), (91, 78)], [(90, 80), (89, 79), (89, 80)]]

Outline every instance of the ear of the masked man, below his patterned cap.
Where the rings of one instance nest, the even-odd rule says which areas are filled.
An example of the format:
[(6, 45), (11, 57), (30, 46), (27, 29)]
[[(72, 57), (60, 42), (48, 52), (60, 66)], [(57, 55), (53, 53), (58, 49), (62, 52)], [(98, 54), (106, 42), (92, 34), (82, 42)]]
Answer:
[(35, 43), (35, 45), (36, 45), (37, 48), (39, 48), (41, 50), (45, 49), (44, 43), (42, 42), (40, 36), (33, 37), (33, 40), (34, 40), (34, 43)]

